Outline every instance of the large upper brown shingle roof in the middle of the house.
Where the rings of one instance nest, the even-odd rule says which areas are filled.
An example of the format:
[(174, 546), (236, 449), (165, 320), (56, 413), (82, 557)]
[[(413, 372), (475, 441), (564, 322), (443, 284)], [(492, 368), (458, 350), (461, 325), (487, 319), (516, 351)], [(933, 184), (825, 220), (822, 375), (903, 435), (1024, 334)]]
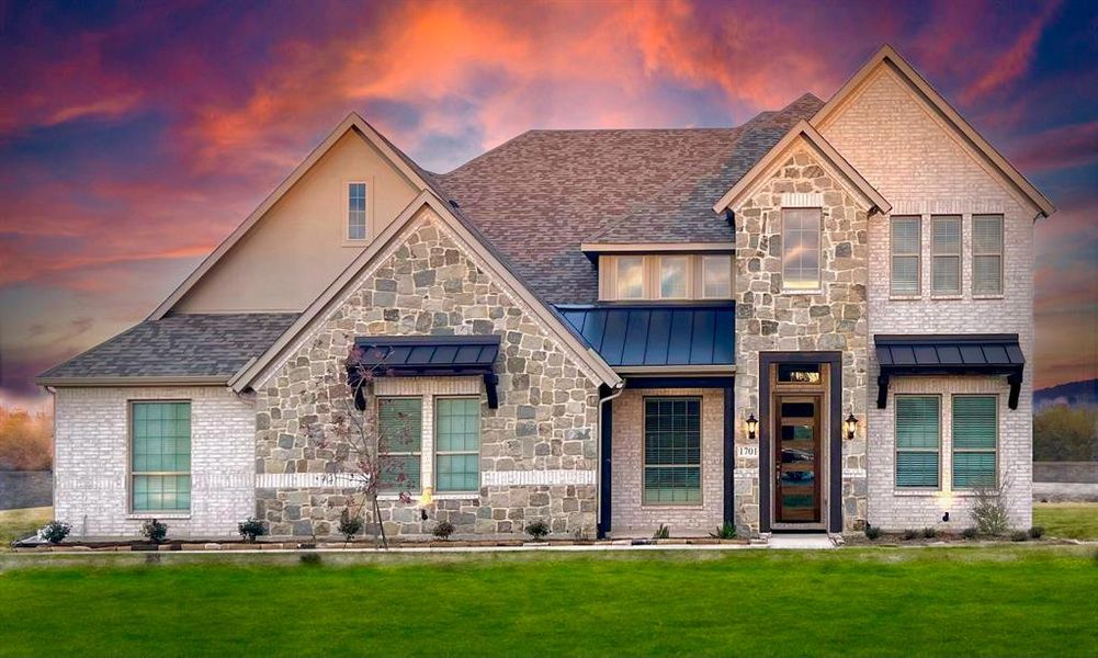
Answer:
[(805, 94), (730, 129), (529, 131), (433, 182), (535, 293), (590, 303), (582, 243), (730, 242), (713, 204), (821, 105)]

